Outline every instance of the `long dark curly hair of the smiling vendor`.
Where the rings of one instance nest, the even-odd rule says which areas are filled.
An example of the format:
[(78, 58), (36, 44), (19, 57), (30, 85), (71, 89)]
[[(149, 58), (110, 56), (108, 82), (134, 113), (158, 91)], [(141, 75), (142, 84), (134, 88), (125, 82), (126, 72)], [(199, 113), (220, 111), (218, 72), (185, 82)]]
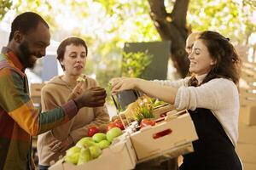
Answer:
[[(215, 31), (203, 31), (198, 40), (202, 40), (207, 46), (212, 59), (216, 60), (216, 64), (212, 66), (211, 71), (209, 71), (202, 83), (209, 82), (213, 78), (223, 77), (232, 80), (238, 85), (241, 59), (236, 54), (230, 39)], [(193, 82), (195, 82), (195, 76), (190, 78), (189, 86), (195, 86)]]

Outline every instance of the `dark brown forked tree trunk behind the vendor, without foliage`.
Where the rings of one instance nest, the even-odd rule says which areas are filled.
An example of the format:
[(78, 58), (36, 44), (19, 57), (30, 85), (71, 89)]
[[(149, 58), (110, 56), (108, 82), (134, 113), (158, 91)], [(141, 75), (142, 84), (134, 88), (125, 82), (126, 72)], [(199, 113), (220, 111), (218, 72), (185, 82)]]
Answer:
[(185, 51), (188, 29), (186, 17), (189, 0), (177, 0), (173, 4), (172, 12), (166, 11), (165, 0), (148, 0), (151, 19), (162, 40), (171, 40), (171, 57), (177, 72), (186, 77), (189, 71), (189, 59)]

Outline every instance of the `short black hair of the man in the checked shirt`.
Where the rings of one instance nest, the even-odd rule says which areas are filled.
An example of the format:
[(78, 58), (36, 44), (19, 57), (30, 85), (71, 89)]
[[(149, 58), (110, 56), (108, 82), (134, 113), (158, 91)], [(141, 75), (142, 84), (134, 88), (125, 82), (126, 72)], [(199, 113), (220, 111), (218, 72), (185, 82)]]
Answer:
[(26, 34), (28, 31), (36, 29), (40, 22), (49, 28), (47, 22), (39, 14), (33, 12), (19, 14), (12, 22), (9, 42), (13, 39), (15, 31), (20, 31), (23, 34)]

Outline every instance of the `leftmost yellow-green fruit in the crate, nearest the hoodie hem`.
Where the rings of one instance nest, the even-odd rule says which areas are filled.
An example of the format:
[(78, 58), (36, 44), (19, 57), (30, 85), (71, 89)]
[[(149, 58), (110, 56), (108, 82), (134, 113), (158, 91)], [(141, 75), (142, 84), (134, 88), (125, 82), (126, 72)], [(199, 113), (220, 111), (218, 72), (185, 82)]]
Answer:
[(73, 146), (72, 148), (66, 151), (66, 156), (64, 157), (64, 160), (76, 165), (79, 161), (80, 150), (81, 148)]

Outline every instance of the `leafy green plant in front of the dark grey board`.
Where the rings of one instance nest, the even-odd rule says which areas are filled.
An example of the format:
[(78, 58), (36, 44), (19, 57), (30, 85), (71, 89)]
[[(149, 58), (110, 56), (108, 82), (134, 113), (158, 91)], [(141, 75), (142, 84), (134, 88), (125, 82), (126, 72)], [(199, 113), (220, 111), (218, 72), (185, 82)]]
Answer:
[(122, 76), (142, 77), (143, 71), (151, 63), (153, 55), (148, 51), (137, 53), (123, 53)]

